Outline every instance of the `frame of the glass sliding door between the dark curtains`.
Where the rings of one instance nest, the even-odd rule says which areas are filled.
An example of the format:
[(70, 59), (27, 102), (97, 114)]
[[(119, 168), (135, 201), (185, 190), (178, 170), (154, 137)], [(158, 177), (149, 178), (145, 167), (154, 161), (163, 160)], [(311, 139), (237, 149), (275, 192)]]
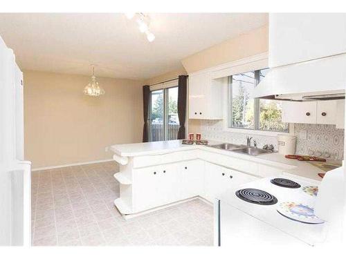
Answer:
[(167, 141), (168, 137), (168, 105), (169, 105), (169, 94), (168, 91), (170, 88), (178, 88), (179, 86), (170, 86), (170, 87), (162, 87), (162, 88), (154, 88), (150, 90), (149, 94), (149, 125), (148, 125), (148, 133), (149, 133), (149, 142), (153, 142), (152, 140), (152, 92), (157, 90), (163, 90), (163, 140), (158, 141)]

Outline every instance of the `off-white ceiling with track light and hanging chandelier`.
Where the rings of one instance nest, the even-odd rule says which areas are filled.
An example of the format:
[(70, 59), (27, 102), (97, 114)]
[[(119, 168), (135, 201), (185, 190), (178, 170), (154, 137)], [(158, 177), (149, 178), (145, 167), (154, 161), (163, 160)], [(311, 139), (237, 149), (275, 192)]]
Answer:
[(20, 68), (148, 79), (181, 68), (180, 60), (264, 26), (264, 13), (152, 13), (150, 43), (121, 13), (0, 14), (0, 35)]

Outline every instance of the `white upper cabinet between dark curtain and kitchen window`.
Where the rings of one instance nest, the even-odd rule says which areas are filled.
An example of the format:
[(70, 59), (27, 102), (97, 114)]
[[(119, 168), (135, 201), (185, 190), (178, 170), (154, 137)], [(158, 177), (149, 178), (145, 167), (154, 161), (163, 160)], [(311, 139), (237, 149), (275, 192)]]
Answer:
[(222, 86), (210, 72), (189, 75), (189, 119), (222, 119)]

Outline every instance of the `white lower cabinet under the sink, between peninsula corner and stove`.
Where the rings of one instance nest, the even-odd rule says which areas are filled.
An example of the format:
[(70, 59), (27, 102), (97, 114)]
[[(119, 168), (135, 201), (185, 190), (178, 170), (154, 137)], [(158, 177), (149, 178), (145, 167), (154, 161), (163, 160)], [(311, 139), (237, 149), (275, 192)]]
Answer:
[(255, 176), (205, 162), (204, 198), (214, 202), (227, 189), (256, 180)]

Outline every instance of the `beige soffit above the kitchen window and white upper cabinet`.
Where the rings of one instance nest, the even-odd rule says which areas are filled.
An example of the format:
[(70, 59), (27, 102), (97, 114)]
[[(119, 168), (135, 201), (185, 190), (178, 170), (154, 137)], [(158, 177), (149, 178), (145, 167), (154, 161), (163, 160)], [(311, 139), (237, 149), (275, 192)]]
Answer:
[(268, 51), (268, 26), (228, 39), (181, 60), (188, 73)]

